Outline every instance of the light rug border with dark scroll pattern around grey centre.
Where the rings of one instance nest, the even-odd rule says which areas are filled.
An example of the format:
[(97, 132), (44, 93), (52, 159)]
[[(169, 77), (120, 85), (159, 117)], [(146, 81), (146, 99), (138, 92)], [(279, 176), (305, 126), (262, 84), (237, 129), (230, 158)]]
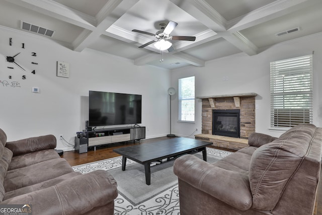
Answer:
[[(201, 153), (200, 153), (201, 154)], [(231, 152), (216, 150), (212, 148), (207, 148), (208, 160), (210, 157), (214, 159), (221, 159), (230, 155)], [(196, 154), (197, 155), (197, 154)], [(137, 164), (136, 162), (127, 159), (126, 167), (129, 165)], [(162, 164), (164, 165), (164, 164)], [(159, 165), (159, 166), (162, 166)], [(98, 162), (83, 164), (74, 166), (75, 172), (81, 172), (83, 174), (93, 172), (95, 170), (106, 170), (110, 171), (116, 168), (121, 168), (122, 166), (122, 156), (106, 159)], [(141, 165), (143, 167), (143, 165)], [(126, 172), (126, 171), (124, 171)], [(113, 175), (113, 174), (112, 174)], [(145, 178), (144, 178), (145, 180)], [(151, 180), (151, 185), (153, 181)], [(150, 185), (150, 186), (151, 186)], [(120, 187), (119, 195), (115, 199), (114, 214), (115, 215), (159, 215), (159, 214), (180, 214), (179, 207), (179, 190), (178, 183), (170, 183), (166, 189), (158, 190), (156, 193), (152, 193), (148, 198), (143, 198), (139, 202), (135, 202), (131, 199), (131, 196), (126, 196), (125, 192), (121, 192)]]

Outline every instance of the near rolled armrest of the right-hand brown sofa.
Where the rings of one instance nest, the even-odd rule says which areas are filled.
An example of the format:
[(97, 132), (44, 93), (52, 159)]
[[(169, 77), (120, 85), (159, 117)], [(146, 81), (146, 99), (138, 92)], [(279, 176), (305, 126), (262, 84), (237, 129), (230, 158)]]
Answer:
[(239, 210), (252, 206), (250, 183), (245, 174), (222, 169), (193, 155), (178, 158), (174, 173), (191, 186)]

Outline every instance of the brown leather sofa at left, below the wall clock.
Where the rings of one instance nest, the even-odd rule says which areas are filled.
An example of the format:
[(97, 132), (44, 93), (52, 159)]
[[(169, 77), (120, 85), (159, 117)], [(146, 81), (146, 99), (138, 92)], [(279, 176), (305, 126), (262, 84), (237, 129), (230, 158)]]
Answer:
[(114, 178), (74, 172), (55, 147), (53, 135), (7, 142), (0, 129), (0, 204), (31, 204), (35, 215), (114, 214)]

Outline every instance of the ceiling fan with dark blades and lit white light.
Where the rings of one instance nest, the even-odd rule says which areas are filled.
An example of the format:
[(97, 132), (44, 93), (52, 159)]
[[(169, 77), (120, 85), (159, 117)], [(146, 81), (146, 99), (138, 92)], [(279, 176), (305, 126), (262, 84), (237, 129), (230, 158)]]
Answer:
[(147, 34), (150, 36), (155, 37), (155, 40), (152, 40), (148, 43), (145, 43), (139, 48), (144, 48), (145, 46), (148, 46), (152, 43), (154, 43), (154, 46), (159, 50), (166, 50), (168, 49), (169, 52), (173, 51), (174, 48), (172, 47), (172, 43), (170, 40), (187, 40), (187, 41), (195, 41), (196, 37), (190, 37), (190, 36), (170, 36), (171, 32), (175, 29), (175, 27), (178, 25), (178, 23), (170, 21), (168, 25), (162, 23), (159, 24), (161, 30), (157, 31), (155, 34), (146, 32), (146, 31), (140, 31), (133, 29), (133, 32), (141, 33), (141, 34)]

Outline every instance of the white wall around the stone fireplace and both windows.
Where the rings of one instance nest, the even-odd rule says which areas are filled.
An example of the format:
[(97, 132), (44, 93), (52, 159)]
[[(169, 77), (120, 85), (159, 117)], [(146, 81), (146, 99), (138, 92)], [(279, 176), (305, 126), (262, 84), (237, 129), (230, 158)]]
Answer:
[[(214, 50), (220, 51), (220, 50)], [(281, 43), (254, 56), (236, 54), (206, 63), (205, 67), (185, 67), (173, 70), (171, 87), (178, 90), (178, 79), (195, 76), (196, 96), (236, 93), (257, 93), (256, 132), (280, 136), (283, 131), (270, 130), (270, 61), (313, 54), (313, 124), (322, 126), (322, 34)], [(227, 81), (223, 77), (228, 77)], [(172, 130), (181, 136), (190, 135), (195, 128), (201, 133), (201, 99), (196, 99), (196, 122), (180, 123), (178, 97), (174, 97)]]

